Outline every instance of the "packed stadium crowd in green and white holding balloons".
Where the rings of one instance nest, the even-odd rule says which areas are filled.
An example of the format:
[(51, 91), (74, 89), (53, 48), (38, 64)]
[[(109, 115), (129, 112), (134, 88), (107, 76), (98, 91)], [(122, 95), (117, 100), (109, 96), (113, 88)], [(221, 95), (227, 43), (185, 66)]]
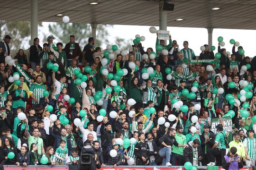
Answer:
[(92, 37), (81, 50), (74, 35), (65, 46), (50, 35), (42, 47), (34, 39), (28, 59), (22, 49), (9, 57), (6, 35), (0, 42), (1, 164), (77, 169), (82, 147), (91, 146), (98, 168), (255, 166), (256, 59), (245, 57), (242, 46), (236, 51), (231, 40), (230, 54), (220, 40), (216, 54), (206, 44), (197, 60), (187, 41), (180, 50), (169, 38), (168, 45), (156, 38), (154, 52), (139, 36), (120, 51), (95, 48)]

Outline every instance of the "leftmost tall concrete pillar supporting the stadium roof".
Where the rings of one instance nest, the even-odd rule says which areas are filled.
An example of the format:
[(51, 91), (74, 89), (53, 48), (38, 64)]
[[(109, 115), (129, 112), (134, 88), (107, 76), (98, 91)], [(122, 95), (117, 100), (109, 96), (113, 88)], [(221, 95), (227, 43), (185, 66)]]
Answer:
[(38, 25), (38, 0), (31, 0), (31, 40), (30, 44), (33, 45), (34, 38), (37, 37), (37, 25)]

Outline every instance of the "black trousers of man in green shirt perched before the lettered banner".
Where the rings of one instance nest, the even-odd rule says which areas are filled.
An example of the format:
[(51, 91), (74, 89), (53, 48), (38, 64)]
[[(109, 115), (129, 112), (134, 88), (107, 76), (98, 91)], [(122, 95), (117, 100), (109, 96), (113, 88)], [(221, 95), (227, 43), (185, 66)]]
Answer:
[(209, 162), (214, 162), (216, 157), (216, 165), (221, 166), (222, 159), (226, 155), (226, 149), (210, 148), (207, 153)]

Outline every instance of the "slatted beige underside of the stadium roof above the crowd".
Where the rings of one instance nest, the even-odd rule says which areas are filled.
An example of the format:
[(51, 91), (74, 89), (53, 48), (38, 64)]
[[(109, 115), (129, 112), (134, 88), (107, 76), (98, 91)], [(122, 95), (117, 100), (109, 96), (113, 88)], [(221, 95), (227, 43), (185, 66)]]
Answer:
[[(167, 12), (167, 26), (256, 28), (256, 0), (169, 2), (175, 7)], [(30, 6), (30, 0), (0, 0), (0, 20), (30, 21)], [(38, 0), (38, 21), (62, 22), (57, 14), (69, 16), (73, 23), (159, 26), (159, 0)]]

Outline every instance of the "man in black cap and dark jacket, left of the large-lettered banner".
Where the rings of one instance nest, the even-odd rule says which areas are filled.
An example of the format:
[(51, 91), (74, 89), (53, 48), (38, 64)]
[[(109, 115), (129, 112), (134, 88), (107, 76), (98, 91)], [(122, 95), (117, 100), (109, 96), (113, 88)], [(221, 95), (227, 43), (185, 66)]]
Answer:
[(201, 147), (203, 153), (202, 166), (206, 166), (208, 163), (208, 155), (207, 150), (212, 148), (214, 144), (215, 136), (212, 131), (210, 131), (210, 127), (208, 124), (203, 126), (203, 133), (200, 135)]

